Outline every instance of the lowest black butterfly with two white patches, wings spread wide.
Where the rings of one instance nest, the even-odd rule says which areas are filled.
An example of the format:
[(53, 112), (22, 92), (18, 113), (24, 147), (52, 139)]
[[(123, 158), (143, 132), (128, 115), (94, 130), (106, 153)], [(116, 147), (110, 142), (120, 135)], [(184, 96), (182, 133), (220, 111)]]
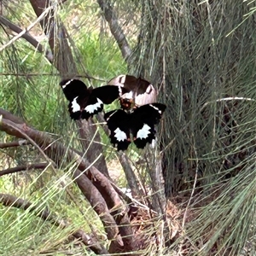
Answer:
[(166, 105), (152, 103), (135, 108), (132, 112), (117, 109), (106, 113), (104, 119), (110, 131), (110, 142), (118, 150), (127, 149), (131, 141), (137, 148), (144, 148), (154, 140), (154, 125), (160, 122), (165, 110)]

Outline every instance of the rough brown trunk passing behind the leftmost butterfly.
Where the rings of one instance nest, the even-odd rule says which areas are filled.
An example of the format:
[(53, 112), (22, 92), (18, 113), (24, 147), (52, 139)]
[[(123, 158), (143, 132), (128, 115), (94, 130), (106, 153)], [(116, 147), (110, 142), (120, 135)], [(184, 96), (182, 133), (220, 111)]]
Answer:
[[(51, 4), (49, 0), (30, 0), (32, 8), (36, 15), (41, 15), (45, 8), (48, 8)], [(54, 10), (49, 12), (49, 15), (45, 16), (40, 21), (42, 29), (45, 35), (49, 37), (49, 47), (53, 54), (53, 65), (61, 74), (61, 78), (72, 78), (78, 74), (76, 63), (73, 59), (72, 50), (68, 44), (69, 36), (67, 29), (61, 23), (54, 13)], [(61, 36), (60, 36), (61, 35)], [(93, 121), (90, 121), (90, 125), (84, 121), (78, 121), (79, 136), (81, 137), (81, 144), (84, 151), (87, 152), (86, 158), (90, 162), (94, 162), (99, 154), (102, 154), (102, 145), (100, 143), (92, 143), (88, 148), (89, 143), (94, 137), (96, 142), (101, 141), (101, 137), (98, 131), (96, 131), (96, 125), (92, 125)], [(96, 136), (95, 136), (96, 135)], [(102, 155), (94, 165), (101, 170), (106, 176), (108, 176), (108, 168), (104, 156)]]

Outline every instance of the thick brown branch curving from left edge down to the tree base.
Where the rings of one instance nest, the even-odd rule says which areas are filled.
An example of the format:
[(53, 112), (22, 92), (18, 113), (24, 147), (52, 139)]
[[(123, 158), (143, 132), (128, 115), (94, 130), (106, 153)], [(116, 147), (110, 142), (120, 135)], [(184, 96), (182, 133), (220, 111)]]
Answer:
[[(15, 119), (10, 113), (6, 114), (6, 116), (9, 116), (10, 119)], [(119, 195), (117, 195), (107, 177), (104, 177), (96, 167), (91, 166), (90, 162), (81, 158), (79, 154), (75, 154), (73, 150), (67, 149), (60, 142), (53, 141), (42, 131), (34, 130), (28, 126), (24, 127), (24, 125), (15, 124), (9, 119), (2, 119), (0, 122), (0, 130), (15, 137), (29, 137), (34, 143), (37, 143), (38, 147), (44, 151), (44, 154), (55, 162), (56, 166), (62, 166), (63, 163), (70, 164), (70, 162), (75, 161), (78, 165), (78, 170), (74, 173), (75, 182), (79, 185), (79, 188), (85, 195), (86, 199), (90, 202), (91, 206), (101, 218), (108, 233), (108, 239), (112, 240), (113, 247), (123, 248), (123, 241), (120, 241), (118, 236), (120, 232), (125, 241), (125, 250), (131, 251), (131, 247), (134, 247), (134, 243), (131, 242), (133, 239), (131, 227), (118, 228), (116, 224), (117, 222), (119, 224), (130, 226), (129, 218), (124, 210), (125, 207), (122, 201), (119, 200)], [(66, 155), (65, 159), (63, 158), (63, 155)], [(86, 172), (86, 170), (88, 171)], [(91, 183), (90, 180), (94, 184)], [(106, 198), (108, 205), (100, 192), (104, 198)], [(115, 209), (118, 212), (109, 212), (109, 207), (118, 207), (119, 210)], [(117, 220), (115, 221), (111, 213), (121, 213), (121, 215), (116, 218)]]

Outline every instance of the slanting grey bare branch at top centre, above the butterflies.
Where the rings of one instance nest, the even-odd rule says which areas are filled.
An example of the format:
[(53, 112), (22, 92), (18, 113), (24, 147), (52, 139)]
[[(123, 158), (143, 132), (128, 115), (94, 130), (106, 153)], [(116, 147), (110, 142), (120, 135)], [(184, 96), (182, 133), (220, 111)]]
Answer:
[(105, 19), (108, 21), (108, 26), (113, 34), (113, 38), (119, 45), (119, 49), (121, 50), (124, 59), (127, 61), (131, 55), (131, 48), (125, 38), (121, 26), (119, 26), (119, 21), (113, 11), (110, 1), (97, 0), (97, 2), (104, 13)]

